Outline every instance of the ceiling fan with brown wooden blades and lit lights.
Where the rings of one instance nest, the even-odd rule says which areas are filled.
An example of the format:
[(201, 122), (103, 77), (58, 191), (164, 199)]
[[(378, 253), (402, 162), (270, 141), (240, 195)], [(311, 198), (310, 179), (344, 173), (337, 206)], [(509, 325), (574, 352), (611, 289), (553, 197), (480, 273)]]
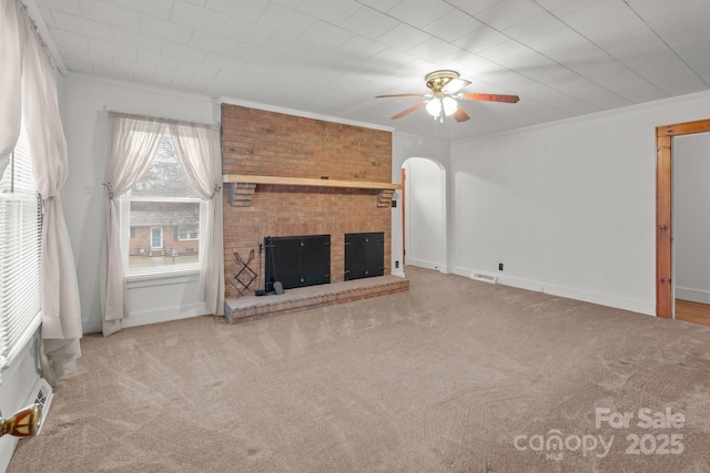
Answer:
[(426, 107), (426, 111), (439, 122), (444, 122), (444, 116), (454, 115), (457, 122), (465, 122), (468, 119), (468, 114), (458, 106), (457, 100), (483, 100), (488, 102), (505, 102), (516, 103), (520, 100), (517, 95), (500, 95), (500, 94), (480, 94), (462, 92), (466, 85), (470, 84), (470, 81), (459, 79), (456, 71), (434, 71), (426, 75), (426, 86), (432, 90), (430, 93), (425, 94), (393, 94), (393, 95), (377, 95), (376, 99), (396, 97), (396, 96), (423, 96), (424, 101), (417, 103), (409, 109), (397, 113), (392, 120), (398, 120), (408, 115), (412, 112), (416, 112), (419, 109)]

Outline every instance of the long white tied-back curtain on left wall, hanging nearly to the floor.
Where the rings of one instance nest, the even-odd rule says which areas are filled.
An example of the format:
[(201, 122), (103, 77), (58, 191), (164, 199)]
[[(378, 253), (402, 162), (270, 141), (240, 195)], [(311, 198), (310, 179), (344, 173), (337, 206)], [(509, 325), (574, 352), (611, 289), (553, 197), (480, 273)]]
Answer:
[(54, 68), (29, 16), (20, 11), (24, 96), (30, 155), (42, 198), (42, 377), (57, 384), (81, 356), (81, 305), (74, 256), (59, 189), (67, 181), (67, 141), (59, 114)]

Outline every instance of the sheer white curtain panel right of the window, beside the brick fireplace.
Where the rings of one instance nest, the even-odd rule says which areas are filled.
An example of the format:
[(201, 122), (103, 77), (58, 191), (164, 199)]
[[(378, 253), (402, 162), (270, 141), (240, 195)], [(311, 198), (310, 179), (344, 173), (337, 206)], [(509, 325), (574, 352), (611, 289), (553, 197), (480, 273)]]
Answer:
[(224, 258), (222, 240), (222, 163), (216, 127), (169, 125), (175, 153), (192, 186), (207, 205), (206, 236), (201, 245), (202, 271), (199, 291), (207, 311), (224, 313)]

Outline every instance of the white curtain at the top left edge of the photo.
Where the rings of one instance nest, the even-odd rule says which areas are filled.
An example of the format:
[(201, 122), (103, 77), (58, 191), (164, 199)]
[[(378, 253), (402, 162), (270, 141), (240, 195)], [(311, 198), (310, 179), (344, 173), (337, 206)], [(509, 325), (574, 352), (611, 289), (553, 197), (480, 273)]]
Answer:
[(0, 0), (0, 176), (20, 135), (22, 53), (16, 0)]

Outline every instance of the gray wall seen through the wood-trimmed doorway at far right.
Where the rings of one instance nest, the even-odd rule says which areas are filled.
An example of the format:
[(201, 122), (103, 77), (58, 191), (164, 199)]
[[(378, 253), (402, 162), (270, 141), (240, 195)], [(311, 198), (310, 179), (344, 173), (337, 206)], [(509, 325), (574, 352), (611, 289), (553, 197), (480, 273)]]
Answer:
[(710, 304), (710, 133), (673, 138), (676, 297)]

